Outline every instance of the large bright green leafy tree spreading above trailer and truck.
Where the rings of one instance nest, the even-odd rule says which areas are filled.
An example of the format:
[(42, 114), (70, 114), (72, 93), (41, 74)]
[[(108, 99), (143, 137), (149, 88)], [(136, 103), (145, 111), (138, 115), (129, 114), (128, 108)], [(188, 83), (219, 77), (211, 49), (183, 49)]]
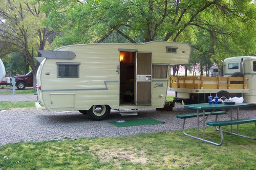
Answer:
[[(204, 69), (210, 62), (220, 63), (236, 54), (255, 54), (256, 10), (251, 0), (43, 2), (43, 10), (51, 11), (48, 25), (61, 31), (54, 40), (57, 47), (100, 42), (189, 42), (198, 51), (197, 63)], [(174, 75), (178, 70), (175, 67)]]

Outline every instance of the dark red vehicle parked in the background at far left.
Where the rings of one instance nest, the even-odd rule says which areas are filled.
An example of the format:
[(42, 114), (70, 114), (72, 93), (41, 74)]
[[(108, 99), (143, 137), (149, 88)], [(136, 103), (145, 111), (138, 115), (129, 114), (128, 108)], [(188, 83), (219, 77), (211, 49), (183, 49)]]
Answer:
[[(18, 90), (23, 90), (25, 87), (33, 87), (33, 71), (29, 71), (25, 76), (14, 76), (15, 78), (15, 86)], [(11, 79), (11, 85), (12, 79)]]

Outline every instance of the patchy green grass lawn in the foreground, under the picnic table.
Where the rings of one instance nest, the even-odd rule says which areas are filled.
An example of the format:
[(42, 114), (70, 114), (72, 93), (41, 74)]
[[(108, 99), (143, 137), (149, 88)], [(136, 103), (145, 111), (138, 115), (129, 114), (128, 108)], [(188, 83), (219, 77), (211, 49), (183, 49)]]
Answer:
[[(240, 127), (255, 132), (254, 124)], [(189, 133), (196, 129), (187, 130)], [(206, 128), (210, 138), (219, 132)], [(254, 134), (255, 135), (255, 134)], [(0, 146), (4, 169), (255, 169), (256, 141), (224, 134), (221, 147), (182, 131)]]

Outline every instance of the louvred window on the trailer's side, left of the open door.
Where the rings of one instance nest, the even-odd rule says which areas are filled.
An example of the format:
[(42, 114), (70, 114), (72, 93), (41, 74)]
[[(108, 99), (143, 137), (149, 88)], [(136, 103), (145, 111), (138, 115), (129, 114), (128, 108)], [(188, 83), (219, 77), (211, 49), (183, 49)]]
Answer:
[(79, 78), (80, 63), (56, 62), (58, 78)]

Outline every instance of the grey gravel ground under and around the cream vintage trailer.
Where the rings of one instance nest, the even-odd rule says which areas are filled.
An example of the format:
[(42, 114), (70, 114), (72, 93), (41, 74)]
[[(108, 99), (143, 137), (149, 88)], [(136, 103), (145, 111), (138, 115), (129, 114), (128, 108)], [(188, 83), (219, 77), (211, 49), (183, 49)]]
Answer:
[[(36, 101), (36, 95), (0, 95), (0, 101)], [(139, 109), (137, 116), (121, 116), (112, 110), (107, 120), (92, 121), (78, 111), (50, 112), (36, 109), (10, 109), (0, 111), (0, 145), (19, 141), (65, 140), (90, 137), (125, 136), (139, 133), (168, 132), (179, 130), (182, 120), (177, 114), (195, 112), (176, 105), (173, 111)], [(240, 110), (240, 117), (256, 116), (256, 106)], [(155, 118), (164, 124), (117, 128), (108, 122), (135, 118)], [(223, 120), (229, 119), (221, 115)], [(214, 120), (214, 116), (208, 118)], [(187, 120), (186, 128), (196, 127), (196, 118)]]

